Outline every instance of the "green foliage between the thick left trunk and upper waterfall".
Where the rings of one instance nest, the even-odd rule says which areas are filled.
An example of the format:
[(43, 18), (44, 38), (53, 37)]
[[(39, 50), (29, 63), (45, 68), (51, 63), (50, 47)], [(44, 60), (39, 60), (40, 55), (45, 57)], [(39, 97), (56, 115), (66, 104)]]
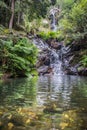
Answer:
[(21, 10), (24, 12), (23, 23), (27, 32), (40, 27), (40, 20), (45, 18), (49, 5), (50, 2), (46, 0), (27, 0), (22, 3)]

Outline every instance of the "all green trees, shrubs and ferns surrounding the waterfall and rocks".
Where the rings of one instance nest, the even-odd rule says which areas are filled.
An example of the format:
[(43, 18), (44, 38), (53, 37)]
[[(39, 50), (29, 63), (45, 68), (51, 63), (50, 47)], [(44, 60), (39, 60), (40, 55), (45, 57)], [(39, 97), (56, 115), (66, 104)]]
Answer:
[[(60, 10), (56, 16), (57, 32), (50, 31), (49, 27), (49, 10), (54, 7)], [(23, 70), (22, 74), (26, 75), (25, 73), (29, 71), (26, 69), (26, 66), (33, 66), (34, 59), (36, 59), (32, 59), (36, 57), (36, 52), (33, 52), (34, 49), (31, 49), (33, 45), (28, 44), (27, 40), (18, 40), (14, 45), (13, 38), (10, 40), (3, 38), (17, 33), (16, 31), (21, 31), (17, 33), (18, 35), (21, 35), (21, 33), (25, 35), (29, 32), (32, 34), (37, 33), (44, 40), (56, 38), (58, 41), (64, 41), (65, 45), (70, 45), (74, 42), (76, 46), (79, 46), (77, 47), (77, 53), (79, 53), (77, 57), (79, 58), (74, 59), (72, 64), (79, 62), (82, 66), (87, 67), (86, 13), (87, 0), (0, 1), (1, 70), (4, 70), (4, 72), (12, 72), (13, 75), (20, 75), (20, 71)], [(48, 21), (48, 24), (43, 24), (44, 19)], [(21, 56), (20, 53), (22, 54)], [(33, 60), (31, 65), (30, 58), (27, 57), (29, 55)], [(14, 62), (16, 63), (14, 64)]]

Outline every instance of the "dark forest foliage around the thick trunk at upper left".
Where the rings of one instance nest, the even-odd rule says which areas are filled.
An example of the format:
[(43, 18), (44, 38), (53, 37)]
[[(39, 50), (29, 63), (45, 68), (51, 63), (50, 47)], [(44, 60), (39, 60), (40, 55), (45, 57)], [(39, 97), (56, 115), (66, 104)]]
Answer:
[[(11, 2), (9, 0), (0, 1), (0, 24), (3, 24), (5, 27), (8, 27), (12, 14)], [(47, 0), (15, 0), (14, 27), (17, 24), (24, 25), (24, 16), (27, 17), (28, 22), (45, 17), (49, 6), (50, 1)]]

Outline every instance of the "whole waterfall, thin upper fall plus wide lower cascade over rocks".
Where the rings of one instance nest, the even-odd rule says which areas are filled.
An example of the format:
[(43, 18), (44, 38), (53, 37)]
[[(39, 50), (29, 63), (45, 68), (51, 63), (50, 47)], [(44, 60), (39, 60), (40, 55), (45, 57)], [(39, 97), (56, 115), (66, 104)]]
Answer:
[[(56, 25), (56, 13), (59, 12), (58, 8), (52, 8), (50, 10), (50, 20), (51, 20), (51, 29), (52, 31), (57, 31), (57, 25)], [(51, 41), (50, 41), (51, 42)], [(62, 45), (58, 43), (57, 41), (53, 41), (57, 46), (61, 46), (59, 49), (54, 48), (51, 46), (51, 44), (47, 44), (40, 38), (33, 39), (33, 43), (36, 44), (36, 46), (39, 48), (39, 73), (40, 74), (46, 74), (50, 73), (52, 70), (53, 74), (61, 75), (63, 74), (62, 71)], [(45, 68), (45, 69), (44, 69)]]

